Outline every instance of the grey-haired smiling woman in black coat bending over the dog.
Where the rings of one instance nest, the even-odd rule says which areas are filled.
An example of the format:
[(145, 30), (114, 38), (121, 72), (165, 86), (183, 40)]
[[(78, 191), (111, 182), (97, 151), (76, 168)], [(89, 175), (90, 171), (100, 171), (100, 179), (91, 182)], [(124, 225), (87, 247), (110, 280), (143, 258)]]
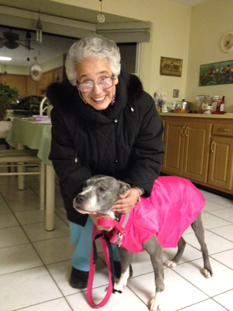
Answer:
[[(59, 178), (75, 245), (70, 285), (85, 288), (91, 230), (98, 215), (75, 211), (73, 199), (83, 182), (95, 174), (113, 176), (134, 187), (114, 204), (114, 211), (127, 213), (139, 195), (149, 197), (161, 167), (163, 127), (153, 98), (143, 91), (138, 77), (123, 67), (112, 40), (100, 35), (79, 40), (71, 46), (65, 67), (68, 80), (47, 90), (53, 105), (49, 158)], [(115, 245), (113, 253), (119, 277)]]

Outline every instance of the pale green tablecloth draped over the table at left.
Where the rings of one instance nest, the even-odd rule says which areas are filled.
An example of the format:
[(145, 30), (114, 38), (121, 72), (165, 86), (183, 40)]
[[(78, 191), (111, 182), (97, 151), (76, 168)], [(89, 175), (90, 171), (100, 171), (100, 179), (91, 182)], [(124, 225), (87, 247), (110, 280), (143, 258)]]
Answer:
[(17, 147), (17, 144), (20, 143), (31, 149), (38, 149), (37, 156), (39, 159), (46, 165), (52, 166), (52, 162), (48, 160), (51, 144), (51, 128), (51, 124), (14, 118), (6, 141), (12, 147)]

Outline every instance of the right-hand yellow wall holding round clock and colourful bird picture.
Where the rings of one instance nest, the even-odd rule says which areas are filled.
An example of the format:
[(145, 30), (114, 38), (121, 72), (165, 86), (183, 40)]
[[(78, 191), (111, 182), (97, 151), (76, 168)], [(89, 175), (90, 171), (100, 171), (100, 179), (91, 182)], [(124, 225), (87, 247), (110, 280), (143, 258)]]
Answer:
[(225, 96), (225, 110), (233, 113), (233, 83), (199, 86), (200, 65), (233, 60), (233, 51), (224, 53), (220, 40), (224, 33), (233, 31), (233, 1), (209, 0), (192, 8), (190, 47), (186, 83), (186, 99), (196, 95)]

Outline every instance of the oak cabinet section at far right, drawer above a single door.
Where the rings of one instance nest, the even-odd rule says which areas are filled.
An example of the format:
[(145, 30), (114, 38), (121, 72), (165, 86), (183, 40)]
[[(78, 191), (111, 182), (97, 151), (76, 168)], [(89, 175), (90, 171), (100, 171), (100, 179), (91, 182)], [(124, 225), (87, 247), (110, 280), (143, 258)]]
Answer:
[(213, 125), (210, 151), (208, 183), (231, 190), (233, 179), (233, 125)]

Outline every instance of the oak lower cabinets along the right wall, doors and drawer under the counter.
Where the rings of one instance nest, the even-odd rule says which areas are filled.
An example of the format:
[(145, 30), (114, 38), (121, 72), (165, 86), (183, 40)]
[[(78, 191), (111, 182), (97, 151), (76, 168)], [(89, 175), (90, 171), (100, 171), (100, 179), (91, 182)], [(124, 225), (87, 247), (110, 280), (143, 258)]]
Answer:
[(233, 120), (172, 115), (161, 115), (165, 124), (161, 172), (233, 194)]

